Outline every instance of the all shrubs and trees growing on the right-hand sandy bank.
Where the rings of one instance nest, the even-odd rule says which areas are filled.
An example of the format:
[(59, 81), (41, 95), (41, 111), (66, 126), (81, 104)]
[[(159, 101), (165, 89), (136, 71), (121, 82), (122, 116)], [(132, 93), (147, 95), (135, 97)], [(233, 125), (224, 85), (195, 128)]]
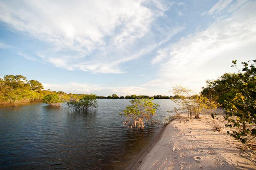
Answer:
[[(253, 145), (256, 142), (256, 60), (242, 62), (243, 68), (237, 67), (237, 73), (224, 73), (217, 80), (207, 81), (201, 93), (192, 95), (191, 90), (176, 86), (173, 93), (179, 100), (172, 98), (179, 107), (176, 113), (188, 113), (188, 118), (199, 118), (203, 113), (210, 113), (212, 120), (208, 123), (213, 129), (220, 131), (225, 126), (228, 131), (242, 143)], [(220, 117), (217, 107), (223, 107), (226, 116)], [(225, 121), (225, 123), (224, 123)]]

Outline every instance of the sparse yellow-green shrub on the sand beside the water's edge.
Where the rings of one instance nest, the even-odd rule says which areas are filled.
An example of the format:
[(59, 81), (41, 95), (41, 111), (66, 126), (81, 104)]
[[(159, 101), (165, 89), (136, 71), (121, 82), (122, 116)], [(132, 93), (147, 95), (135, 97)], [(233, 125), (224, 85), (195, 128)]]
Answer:
[(203, 95), (191, 95), (191, 90), (186, 89), (181, 86), (176, 86), (173, 88), (174, 96), (173, 101), (177, 103), (180, 107), (175, 111), (184, 113), (188, 113), (188, 117), (191, 118), (194, 116), (195, 118), (199, 118), (200, 114), (204, 113), (206, 110), (213, 110), (218, 107), (218, 104), (209, 100), (207, 97)]

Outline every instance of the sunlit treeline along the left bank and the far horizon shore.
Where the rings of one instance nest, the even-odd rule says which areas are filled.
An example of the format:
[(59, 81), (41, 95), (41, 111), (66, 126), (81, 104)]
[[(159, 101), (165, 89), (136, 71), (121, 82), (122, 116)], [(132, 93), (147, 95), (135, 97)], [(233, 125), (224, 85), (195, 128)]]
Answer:
[[(71, 100), (79, 100), (84, 97), (85, 94), (72, 94), (65, 93), (63, 91), (51, 91), (50, 89), (44, 90), (42, 83), (37, 80), (27, 80), (25, 76), (22, 75), (5, 75), (3, 79), (0, 78), (0, 104), (19, 104), (28, 103), (33, 101), (42, 101), (44, 96), (50, 94), (57, 94), (60, 101), (67, 102)], [(176, 96), (121, 96), (118, 97), (116, 94), (110, 95), (108, 97), (97, 96), (97, 98), (108, 98), (108, 99), (135, 99), (135, 98), (154, 98), (154, 99), (178, 99)]]

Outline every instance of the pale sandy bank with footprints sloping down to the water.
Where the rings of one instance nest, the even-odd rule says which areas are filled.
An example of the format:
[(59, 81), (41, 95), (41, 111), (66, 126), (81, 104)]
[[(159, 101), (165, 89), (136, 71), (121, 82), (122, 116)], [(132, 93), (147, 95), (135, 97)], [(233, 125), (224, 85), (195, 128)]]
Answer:
[[(256, 151), (227, 135), (228, 128), (213, 131), (207, 117), (174, 120), (137, 166), (148, 169), (256, 169)], [(137, 167), (135, 169), (137, 169)]]

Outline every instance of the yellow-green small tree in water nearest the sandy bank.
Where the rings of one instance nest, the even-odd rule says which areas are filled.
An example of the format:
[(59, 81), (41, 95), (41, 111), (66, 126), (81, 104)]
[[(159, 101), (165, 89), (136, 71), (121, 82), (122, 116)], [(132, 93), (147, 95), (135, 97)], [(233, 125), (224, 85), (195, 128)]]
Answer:
[(129, 128), (145, 128), (145, 122), (152, 120), (159, 106), (153, 102), (154, 99), (134, 99), (130, 101), (131, 105), (126, 106), (120, 115), (126, 116), (124, 125)]

